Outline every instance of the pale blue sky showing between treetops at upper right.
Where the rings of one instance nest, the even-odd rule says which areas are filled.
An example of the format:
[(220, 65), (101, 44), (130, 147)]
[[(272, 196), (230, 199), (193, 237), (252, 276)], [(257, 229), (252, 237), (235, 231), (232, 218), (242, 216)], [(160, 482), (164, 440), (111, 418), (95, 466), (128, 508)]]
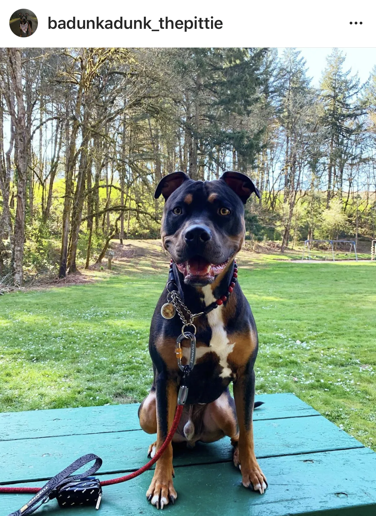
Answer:
[[(318, 87), (320, 83), (321, 73), (326, 67), (326, 57), (331, 54), (332, 49), (327, 47), (303, 47), (297, 48), (306, 60), (306, 66), (309, 69), (307, 75), (312, 77), (312, 86)], [(371, 48), (339, 48), (346, 54), (345, 69), (351, 68), (353, 73), (358, 72), (361, 83), (365, 83), (368, 79), (372, 68), (376, 65), (376, 47)], [(278, 49), (279, 53), (283, 49)]]

